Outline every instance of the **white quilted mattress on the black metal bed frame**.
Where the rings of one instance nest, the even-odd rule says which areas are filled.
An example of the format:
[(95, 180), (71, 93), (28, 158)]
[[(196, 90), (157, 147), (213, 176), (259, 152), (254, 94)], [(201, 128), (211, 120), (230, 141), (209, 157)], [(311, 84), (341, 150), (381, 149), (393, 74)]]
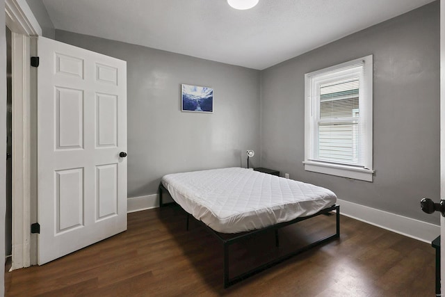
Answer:
[(310, 216), (337, 201), (326, 188), (245, 168), (175, 173), (161, 182), (185, 211), (222, 233)]

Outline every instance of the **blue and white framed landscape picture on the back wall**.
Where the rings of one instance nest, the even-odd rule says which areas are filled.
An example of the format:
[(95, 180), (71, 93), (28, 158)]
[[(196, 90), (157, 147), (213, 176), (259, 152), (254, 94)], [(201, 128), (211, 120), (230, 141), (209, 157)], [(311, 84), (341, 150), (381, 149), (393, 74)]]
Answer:
[(213, 113), (213, 88), (181, 85), (181, 110)]

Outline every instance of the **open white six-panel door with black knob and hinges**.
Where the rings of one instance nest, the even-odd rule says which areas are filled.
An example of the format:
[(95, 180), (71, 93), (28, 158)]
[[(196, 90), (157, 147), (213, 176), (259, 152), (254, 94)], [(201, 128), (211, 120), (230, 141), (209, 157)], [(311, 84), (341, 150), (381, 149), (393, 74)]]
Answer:
[(127, 63), (38, 38), (38, 264), (127, 230)]

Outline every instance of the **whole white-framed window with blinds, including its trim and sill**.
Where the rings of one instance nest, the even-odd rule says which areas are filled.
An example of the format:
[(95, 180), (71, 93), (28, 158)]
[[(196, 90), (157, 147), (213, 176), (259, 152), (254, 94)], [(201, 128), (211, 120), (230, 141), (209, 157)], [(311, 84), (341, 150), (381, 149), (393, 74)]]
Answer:
[(305, 75), (305, 170), (373, 180), (373, 56)]

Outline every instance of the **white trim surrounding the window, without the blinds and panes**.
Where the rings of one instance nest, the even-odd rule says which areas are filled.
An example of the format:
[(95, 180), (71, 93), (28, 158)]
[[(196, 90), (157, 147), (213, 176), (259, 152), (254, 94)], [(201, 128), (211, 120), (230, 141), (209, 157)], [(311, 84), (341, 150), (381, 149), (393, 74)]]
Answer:
[[(314, 125), (312, 111), (316, 110), (314, 109), (316, 100), (312, 100), (312, 94), (314, 93), (314, 83), (317, 83), (319, 79), (313, 80), (312, 78), (325, 73), (325, 79), (332, 79), (332, 77), (336, 77), (336, 74), (329, 74), (329, 72), (341, 70), (345, 67), (352, 67), (360, 62), (364, 62), (363, 77), (366, 77), (366, 79), (362, 79), (363, 86), (360, 86), (359, 90), (360, 96), (366, 98), (360, 99), (360, 104), (364, 106), (364, 114), (361, 116), (366, 118), (363, 127), (364, 166), (350, 166), (313, 160), (311, 156), (314, 150), (314, 144), (311, 142), (313, 137), (311, 135), (311, 127)], [(373, 174), (375, 172), (373, 170), (373, 55), (357, 58), (353, 61), (305, 74), (305, 161), (302, 163), (306, 171), (373, 182)]]

